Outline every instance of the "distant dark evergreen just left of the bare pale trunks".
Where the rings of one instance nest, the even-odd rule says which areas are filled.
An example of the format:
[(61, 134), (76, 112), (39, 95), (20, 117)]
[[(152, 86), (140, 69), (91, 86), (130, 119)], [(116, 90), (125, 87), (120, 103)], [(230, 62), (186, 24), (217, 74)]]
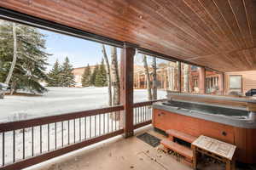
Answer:
[(107, 72), (104, 65), (104, 60), (102, 59), (101, 65), (98, 66), (98, 71), (95, 78), (95, 86), (103, 87), (107, 86)]

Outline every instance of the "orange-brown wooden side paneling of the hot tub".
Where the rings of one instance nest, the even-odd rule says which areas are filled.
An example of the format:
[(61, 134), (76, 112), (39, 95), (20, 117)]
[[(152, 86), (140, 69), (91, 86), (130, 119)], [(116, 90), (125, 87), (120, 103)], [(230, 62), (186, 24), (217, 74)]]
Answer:
[(245, 163), (256, 163), (256, 129), (232, 127), (159, 109), (153, 111), (152, 122), (154, 127), (164, 131), (174, 129), (195, 137), (205, 135), (212, 139), (235, 144), (237, 147), (236, 160)]

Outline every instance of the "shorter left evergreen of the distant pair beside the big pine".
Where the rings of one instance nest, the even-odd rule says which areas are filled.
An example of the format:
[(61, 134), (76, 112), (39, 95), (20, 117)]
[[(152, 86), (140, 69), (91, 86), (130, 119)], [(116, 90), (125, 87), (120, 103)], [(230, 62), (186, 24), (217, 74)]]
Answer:
[(47, 82), (49, 87), (61, 86), (61, 66), (59, 65), (58, 59), (56, 59), (55, 65), (49, 71)]

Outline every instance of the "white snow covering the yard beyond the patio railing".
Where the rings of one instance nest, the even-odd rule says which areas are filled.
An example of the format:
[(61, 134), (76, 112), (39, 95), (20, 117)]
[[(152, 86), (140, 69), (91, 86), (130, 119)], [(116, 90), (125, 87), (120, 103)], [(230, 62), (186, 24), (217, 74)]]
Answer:
[[(166, 98), (165, 91), (158, 91), (159, 99)], [(146, 101), (146, 90), (135, 90), (135, 102)], [(108, 105), (107, 88), (49, 88), (49, 93), (44, 96), (5, 96), (0, 99), (0, 122), (14, 121), (15, 118), (32, 118), (36, 116), (49, 116), (54, 114), (68, 113), (73, 111), (84, 111), (105, 107)], [(15, 161), (23, 157), (38, 155), (41, 152), (55, 150), (55, 148), (79, 142), (81, 139), (90, 139), (104, 133), (110, 133), (119, 129), (119, 121), (110, 119), (112, 113), (88, 116), (69, 122), (56, 122), (49, 125), (24, 129), (25, 144), (23, 144), (23, 130), (15, 131)], [(27, 117), (26, 117), (27, 116)], [(113, 115), (112, 115), (113, 116)], [(139, 116), (139, 115), (137, 115)], [(141, 115), (142, 116), (142, 115)], [(148, 118), (152, 113), (148, 112)], [(137, 120), (140, 120), (137, 117)], [(68, 125), (69, 124), (69, 125)], [(41, 129), (40, 129), (41, 128)], [(33, 132), (33, 141), (32, 141)], [(42, 136), (40, 137), (40, 132)], [(81, 135), (81, 136), (80, 136)], [(13, 161), (14, 132), (4, 134), (4, 157), (5, 163)], [(40, 139), (42, 138), (42, 147)], [(32, 147), (33, 146), (33, 147)], [(32, 149), (33, 148), (33, 149)], [(41, 150), (40, 150), (41, 148)], [(0, 134), (0, 165), (3, 164), (3, 133)], [(1, 167), (1, 166), (0, 166)]]

